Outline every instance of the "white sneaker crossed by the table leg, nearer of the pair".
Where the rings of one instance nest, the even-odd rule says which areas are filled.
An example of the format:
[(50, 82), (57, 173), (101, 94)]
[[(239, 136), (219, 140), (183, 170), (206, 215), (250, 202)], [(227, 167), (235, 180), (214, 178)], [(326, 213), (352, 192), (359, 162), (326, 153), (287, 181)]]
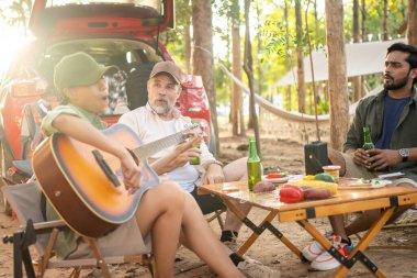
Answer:
[[(335, 246), (342, 256), (348, 256), (353, 249), (353, 244), (341, 242), (341, 237), (334, 236), (333, 246)], [(312, 268), (315, 270), (330, 270), (340, 266), (339, 260), (331, 256), (328, 252), (323, 252), (322, 255), (312, 262)]]

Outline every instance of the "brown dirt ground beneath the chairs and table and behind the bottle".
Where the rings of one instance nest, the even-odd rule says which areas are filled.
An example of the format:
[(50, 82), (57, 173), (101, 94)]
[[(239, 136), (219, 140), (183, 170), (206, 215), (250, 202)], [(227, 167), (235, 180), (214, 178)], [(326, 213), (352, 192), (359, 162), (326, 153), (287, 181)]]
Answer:
[[(238, 138), (223, 135), (221, 140), (221, 160), (228, 163), (233, 159), (247, 155), (248, 138)], [(280, 141), (275, 138), (261, 140), (263, 166), (279, 167), (291, 174), (303, 174), (304, 158), (303, 146), (298, 143)], [(244, 151), (238, 151), (244, 149)], [(1, 207), (2, 208), (2, 207)], [(253, 209), (249, 219), (259, 223), (264, 212)], [(351, 215), (350, 218), (354, 218)], [(407, 223), (417, 222), (417, 211), (409, 210), (409, 213), (402, 220)], [(326, 219), (317, 219), (312, 221), (320, 231), (328, 230), (328, 221)], [(312, 237), (304, 232), (296, 223), (278, 223), (274, 225), (286, 235), (296, 246), (304, 247), (312, 241)], [(219, 225), (216, 221), (211, 222), (216, 234), (219, 234)], [(4, 213), (0, 213), (0, 234), (10, 235), (18, 227), (15, 221), (11, 221)], [(417, 278), (417, 227), (395, 229), (382, 232), (374, 244), (383, 245), (403, 245), (408, 249), (370, 249), (367, 251), (369, 257), (374, 260), (380, 269), (384, 271), (386, 277), (404, 277)], [(238, 243), (243, 243), (250, 235), (250, 231), (244, 227), (239, 233)], [(353, 241), (357, 241), (353, 237)], [(414, 249), (413, 249), (414, 248)], [(35, 253), (33, 257), (35, 257)], [(281, 271), (281, 277), (331, 277), (333, 271), (315, 273), (308, 270), (308, 264), (302, 263), (290, 249), (288, 249), (279, 240), (270, 232), (266, 231), (248, 251), (248, 256), (260, 260), (262, 264)], [(207, 266), (205, 266), (195, 255), (181, 247), (177, 255), (176, 277), (216, 277)], [(0, 277), (12, 276), (12, 245), (0, 244)], [(112, 267), (114, 277), (150, 277), (148, 271), (135, 264), (124, 264)], [(68, 270), (49, 270), (46, 277), (68, 277)], [(82, 277), (99, 277), (91, 270), (83, 270)], [(361, 265), (354, 265), (349, 277), (372, 277), (368, 270)]]

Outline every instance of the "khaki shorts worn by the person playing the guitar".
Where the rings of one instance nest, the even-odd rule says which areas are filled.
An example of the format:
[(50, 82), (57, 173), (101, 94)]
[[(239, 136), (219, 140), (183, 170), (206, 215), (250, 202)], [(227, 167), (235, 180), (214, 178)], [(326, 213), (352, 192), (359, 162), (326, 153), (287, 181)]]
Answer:
[[(90, 243), (80, 237), (77, 249), (68, 255), (68, 258), (90, 258), (93, 253)], [(100, 252), (104, 257), (109, 256), (135, 256), (147, 254), (151, 251), (150, 235), (142, 237), (136, 219), (132, 218), (126, 223), (120, 225), (113, 232), (99, 237), (98, 240)]]

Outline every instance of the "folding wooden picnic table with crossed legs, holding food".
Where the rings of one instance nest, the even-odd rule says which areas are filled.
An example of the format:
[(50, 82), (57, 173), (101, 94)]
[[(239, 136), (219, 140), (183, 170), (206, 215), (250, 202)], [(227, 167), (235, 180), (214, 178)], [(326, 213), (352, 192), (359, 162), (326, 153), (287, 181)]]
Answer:
[[(340, 179), (340, 182), (342, 181), (343, 179)], [(235, 181), (200, 186), (199, 193), (212, 193), (218, 196), (227, 208), (232, 210), (243, 223), (252, 230), (253, 233), (237, 252), (239, 256), (243, 256), (249, 249), (264, 230), (269, 230), (295, 255), (301, 259), (304, 259), (302, 252), (271, 223), (275, 218), (280, 222), (296, 221), (316, 241), (318, 241), (325, 249), (341, 263), (341, 266), (335, 273), (335, 277), (345, 277), (358, 260), (360, 260), (375, 277), (385, 277), (377, 266), (365, 256), (364, 251), (393, 215), (396, 207), (417, 203), (417, 189), (403, 187), (339, 189), (338, 193), (329, 199), (303, 201), (292, 204), (280, 202), (278, 193), (279, 189), (280, 187), (272, 192), (255, 193), (248, 190), (247, 181)], [(253, 207), (269, 211), (269, 213), (259, 225), (256, 225), (236, 207), (236, 203), (241, 202), (247, 202)], [(347, 258), (343, 257), (337, 248), (333, 247), (328, 240), (308, 222), (309, 219), (374, 209), (385, 210), (359, 241)]]

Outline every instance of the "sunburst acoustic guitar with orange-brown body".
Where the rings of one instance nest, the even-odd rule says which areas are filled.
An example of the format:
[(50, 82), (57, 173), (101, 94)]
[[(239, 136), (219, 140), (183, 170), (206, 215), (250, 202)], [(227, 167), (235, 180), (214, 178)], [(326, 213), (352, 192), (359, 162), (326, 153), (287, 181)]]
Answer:
[(140, 196), (159, 184), (146, 158), (187, 140), (191, 130), (143, 145), (124, 124), (114, 124), (103, 133), (123, 144), (140, 160), (140, 188), (132, 193), (123, 185), (119, 158), (67, 135), (55, 133), (33, 155), (33, 169), (41, 188), (61, 219), (76, 232), (98, 237), (128, 221)]

